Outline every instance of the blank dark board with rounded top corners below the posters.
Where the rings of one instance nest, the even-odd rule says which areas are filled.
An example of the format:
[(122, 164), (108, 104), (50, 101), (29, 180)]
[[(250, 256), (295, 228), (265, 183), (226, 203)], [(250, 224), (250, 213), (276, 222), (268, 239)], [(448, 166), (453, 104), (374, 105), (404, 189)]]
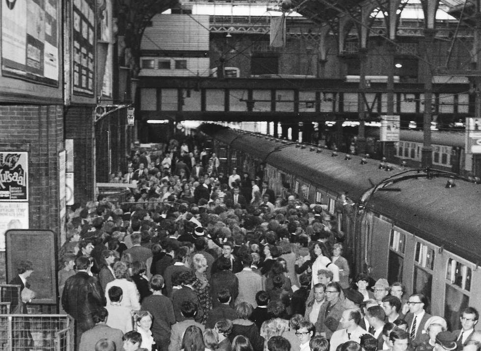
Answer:
[(20, 261), (33, 263), (28, 278), (30, 289), (36, 293), (32, 303), (56, 304), (55, 237), (51, 230), (11, 229), (6, 232), (7, 281), (17, 274)]

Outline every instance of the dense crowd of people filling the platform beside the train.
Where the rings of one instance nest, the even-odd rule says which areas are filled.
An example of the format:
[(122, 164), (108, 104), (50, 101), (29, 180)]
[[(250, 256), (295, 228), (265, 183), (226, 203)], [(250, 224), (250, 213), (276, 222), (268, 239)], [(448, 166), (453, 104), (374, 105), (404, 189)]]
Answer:
[(354, 277), (327, 207), (263, 178), (172, 140), (112, 175), (127, 202), (72, 206), (58, 282), (78, 350), (480, 350), (476, 309), (449, 331), (422, 294)]

